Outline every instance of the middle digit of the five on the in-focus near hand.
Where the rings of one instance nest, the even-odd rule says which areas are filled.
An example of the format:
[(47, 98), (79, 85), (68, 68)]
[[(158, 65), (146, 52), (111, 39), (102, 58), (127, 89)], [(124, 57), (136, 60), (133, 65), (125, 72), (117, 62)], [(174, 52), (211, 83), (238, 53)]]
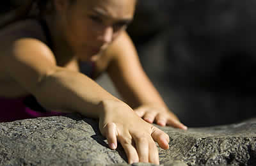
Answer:
[(134, 139), (139, 155), (139, 161), (148, 163), (148, 139), (147, 137), (137, 137)]

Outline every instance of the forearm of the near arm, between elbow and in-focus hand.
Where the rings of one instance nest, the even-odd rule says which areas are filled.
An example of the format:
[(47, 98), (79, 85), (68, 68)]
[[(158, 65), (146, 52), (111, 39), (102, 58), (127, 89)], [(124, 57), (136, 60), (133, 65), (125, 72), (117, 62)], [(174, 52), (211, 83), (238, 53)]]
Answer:
[(92, 79), (78, 72), (58, 70), (39, 84), (35, 96), (45, 108), (79, 112), (84, 116), (99, 117), (100, 103), (116, 100)]

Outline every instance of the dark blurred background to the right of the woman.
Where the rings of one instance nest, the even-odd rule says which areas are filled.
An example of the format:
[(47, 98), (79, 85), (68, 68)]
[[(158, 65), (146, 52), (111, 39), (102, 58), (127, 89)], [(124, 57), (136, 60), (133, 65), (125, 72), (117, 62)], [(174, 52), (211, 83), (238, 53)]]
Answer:
[[(128, 32), (145, 72), (182, 123), (212, 126), (256, 116), (256, 1), (139, 0), (137, 7)], [(97, 82), (118, 96), (107, 75)]]

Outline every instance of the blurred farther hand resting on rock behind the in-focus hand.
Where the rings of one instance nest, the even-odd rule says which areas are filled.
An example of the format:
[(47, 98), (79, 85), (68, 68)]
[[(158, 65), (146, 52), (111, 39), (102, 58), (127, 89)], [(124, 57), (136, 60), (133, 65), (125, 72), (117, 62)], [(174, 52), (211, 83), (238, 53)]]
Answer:
[(170, 110), (165, 109), (164, 107), (159, 107), (156, 105), (143, 105), (134, 109), (134, 112), (138, 114), (138, 116), (142, 117), (148, 123), (153, 123), (160, 126), (173, 126), (175, 128), (181, 128), (187, 130), (188, 127), (184, 126), (184, 124), (180, 123), (177, 116), (175, 116)]

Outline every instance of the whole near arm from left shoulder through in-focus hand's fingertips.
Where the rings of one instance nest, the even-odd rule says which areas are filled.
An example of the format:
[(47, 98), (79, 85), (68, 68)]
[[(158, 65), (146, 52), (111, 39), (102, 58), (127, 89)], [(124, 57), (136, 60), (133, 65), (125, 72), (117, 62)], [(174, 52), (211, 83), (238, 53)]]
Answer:
[(99, 117), (100, 132), (108, 139), (109, 147), (115, 149), (118, 140), (129, 163), (159, 164), (154, 141), (167, 149), (168, 135), (145, 123), (128, 105), (93, 80), (56, 66), (51, 50), (41, 41), (31, 38), (14, 41), (0, 60), (11, 77), (45, 108)]

